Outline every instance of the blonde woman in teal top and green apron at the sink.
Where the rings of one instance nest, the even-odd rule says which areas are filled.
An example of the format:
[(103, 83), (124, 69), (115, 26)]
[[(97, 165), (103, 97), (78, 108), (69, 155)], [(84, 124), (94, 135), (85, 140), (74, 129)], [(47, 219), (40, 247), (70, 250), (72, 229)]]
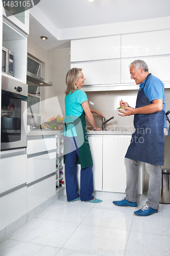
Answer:
[[(86, 120), (90, 122), (95, 131), (101, 130), (96, 126), (92, 113), (98, 117), (104, 117), (102, 113), (91, 110), (85, 92), (81, 91), (84, 86), (82, 69), (70, 69), (66, 75), (65, 83), (65, 183), (67, 201), (88, 201), (99, 203), (102, 200), (92, 196), (93, 193), (93, 173), (92, 157), (88, 137), (86, 133)], [(80, 195), (77, 182), (77, 163), (81, 164)]]

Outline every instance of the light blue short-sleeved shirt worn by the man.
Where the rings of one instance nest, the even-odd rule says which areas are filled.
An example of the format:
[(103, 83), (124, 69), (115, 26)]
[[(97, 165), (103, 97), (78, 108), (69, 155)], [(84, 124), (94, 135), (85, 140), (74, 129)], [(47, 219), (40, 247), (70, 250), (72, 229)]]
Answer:
[[(140, 89), (143, 88), (145, 79), (142, 83), (140, 83), (139, 91), (140, 91)], [(145, 84), (143, 91), (150, 102), (155, 99), (162, 99), (163, 100), (163, 110), (165, 111), (166, 104), (165, 104), (164, 84), (159, 78), (151, 75), (149, 77), (147, 83)], [(166, 119), (165, 119), (164, 127), (167, 128)]]

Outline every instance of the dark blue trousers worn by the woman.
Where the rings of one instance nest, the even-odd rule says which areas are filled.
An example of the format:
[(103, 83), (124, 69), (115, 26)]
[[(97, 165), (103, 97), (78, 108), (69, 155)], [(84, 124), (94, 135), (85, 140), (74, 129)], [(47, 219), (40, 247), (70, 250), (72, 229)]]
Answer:
[[(65, 184), (67, 200), (72, 201), (79, 197), (77, 181), (77, 156), (80, 158), (77, 137), (66, 137), (66, 158), (65, 158)], [(92, 165), (81, 169), (80, 174), (80, 198), (81, 201), (89, 201), (94, 197)]]

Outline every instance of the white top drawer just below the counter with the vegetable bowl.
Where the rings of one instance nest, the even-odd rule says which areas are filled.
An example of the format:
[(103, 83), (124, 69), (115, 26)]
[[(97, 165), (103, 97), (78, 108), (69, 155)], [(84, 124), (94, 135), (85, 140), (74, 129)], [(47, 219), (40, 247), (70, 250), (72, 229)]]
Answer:
[(56, 149), (56, 138), (28, 140), (27, 141), (27, 154), (35, 154), (48, 150)]

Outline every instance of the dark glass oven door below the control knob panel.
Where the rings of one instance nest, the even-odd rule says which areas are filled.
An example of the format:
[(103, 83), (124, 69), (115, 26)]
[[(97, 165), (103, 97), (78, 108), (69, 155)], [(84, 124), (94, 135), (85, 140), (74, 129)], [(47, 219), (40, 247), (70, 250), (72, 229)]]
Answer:
[(1, 151), (27, 146), (27, 97), (2, 91)]

